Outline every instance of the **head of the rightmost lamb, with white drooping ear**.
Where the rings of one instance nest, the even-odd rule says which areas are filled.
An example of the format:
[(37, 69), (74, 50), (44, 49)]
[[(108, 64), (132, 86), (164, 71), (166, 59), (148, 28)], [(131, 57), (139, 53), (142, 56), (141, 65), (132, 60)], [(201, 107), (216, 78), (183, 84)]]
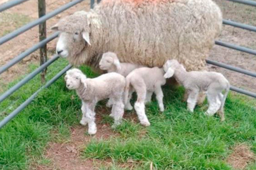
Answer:
[(165, 62), (165, 64), (163, 65), (165, 74), (164, 74), (164, 78), (170, 78), (174, 75), (175, 70), (181, 67), (182, 69), (184, 69), (186, 71), (186, 69), (184, 68), (184, 66), (182, 64), (180, 64), (177, 60), (172, 59), (172, 60), (167, 60)]

